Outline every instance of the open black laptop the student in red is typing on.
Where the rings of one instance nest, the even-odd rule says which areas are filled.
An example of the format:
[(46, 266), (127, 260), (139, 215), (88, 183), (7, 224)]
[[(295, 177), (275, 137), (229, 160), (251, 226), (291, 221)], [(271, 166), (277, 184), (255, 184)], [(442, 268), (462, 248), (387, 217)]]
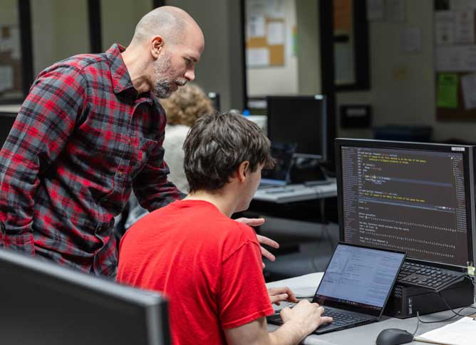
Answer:
[[(313, 333), (323, 334), (378, 321), (405, 260), (405, 252), (339, 242), (312, 302), (324, 307), (330, 324)], [(270, 324), (282, 324), (279, 314)]]

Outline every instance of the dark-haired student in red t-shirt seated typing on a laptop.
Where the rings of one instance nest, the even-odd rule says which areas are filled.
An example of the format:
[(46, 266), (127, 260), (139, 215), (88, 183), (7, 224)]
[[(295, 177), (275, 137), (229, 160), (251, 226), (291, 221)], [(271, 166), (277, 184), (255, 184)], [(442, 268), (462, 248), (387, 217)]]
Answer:
[[(319, 325), (318, 304), (281, 311), (268, 332), (271, 302), (295, 300), (287, 289), (267, 292), (251, 227), (230, 219), (246, 210), (264, 166), (269, 140), (242, 115), (205, 115), (184, 143), (190, 194), (143, 217), (120, 243), (118, 282), (164, 292), (174, 344), (298, 344)], [(284, 297), (280, 297), (284, 293)]]

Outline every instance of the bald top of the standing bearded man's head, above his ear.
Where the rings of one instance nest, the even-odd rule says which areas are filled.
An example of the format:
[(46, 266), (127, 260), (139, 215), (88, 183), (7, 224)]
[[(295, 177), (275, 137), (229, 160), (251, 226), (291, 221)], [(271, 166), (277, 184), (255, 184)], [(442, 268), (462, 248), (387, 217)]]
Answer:
[(200, 31), (195, 20), (182, 9), (173, 6), (162, 6), (150, 11), (140, 19), (131, 45), (141, 44), (154, 36), (161, 36), (164, 41), (178, 43), (182, 41), (187, 29)]

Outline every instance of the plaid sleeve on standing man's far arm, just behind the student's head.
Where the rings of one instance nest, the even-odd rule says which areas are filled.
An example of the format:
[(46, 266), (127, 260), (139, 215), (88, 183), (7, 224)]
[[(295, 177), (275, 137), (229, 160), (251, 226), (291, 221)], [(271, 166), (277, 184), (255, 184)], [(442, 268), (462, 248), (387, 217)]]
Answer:
[(165, 150), (162, 147), (165, 138), (163, 134), (165, 133), (165, 123), (160, 128), (160, 133), (162, 135), (158, 144), (152, 150), (148, 163), (133, 182), (133, 189), (138, 202), (150, 212), (185, 197), (185, 194), (167, 180), (170, 171), (164, 161)]

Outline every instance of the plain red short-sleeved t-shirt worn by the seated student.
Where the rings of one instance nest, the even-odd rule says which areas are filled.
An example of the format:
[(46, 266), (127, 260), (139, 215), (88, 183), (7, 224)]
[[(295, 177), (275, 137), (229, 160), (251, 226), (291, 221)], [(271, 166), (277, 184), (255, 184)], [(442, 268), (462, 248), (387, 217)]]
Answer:
[(138, 220), (120, 242), (117, 279), (169, 297), (176, 345), (226, 344), (223, 329), (273, 314), (254, 230), (205, 201)]

